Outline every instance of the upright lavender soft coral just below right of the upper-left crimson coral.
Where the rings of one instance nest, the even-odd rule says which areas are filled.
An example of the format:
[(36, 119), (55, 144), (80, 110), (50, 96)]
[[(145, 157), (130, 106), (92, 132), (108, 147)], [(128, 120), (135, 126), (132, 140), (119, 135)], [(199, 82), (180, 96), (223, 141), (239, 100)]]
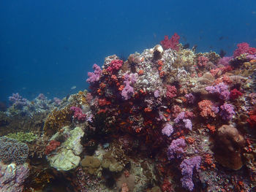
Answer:
[(124, 89), (121, 91), (121, 96), (124, 100), (130, 99), (134, 94), (134, 89), (131, 84), (136, 82), (137, 78), (135, 74), (125, 74), (124, 75)]

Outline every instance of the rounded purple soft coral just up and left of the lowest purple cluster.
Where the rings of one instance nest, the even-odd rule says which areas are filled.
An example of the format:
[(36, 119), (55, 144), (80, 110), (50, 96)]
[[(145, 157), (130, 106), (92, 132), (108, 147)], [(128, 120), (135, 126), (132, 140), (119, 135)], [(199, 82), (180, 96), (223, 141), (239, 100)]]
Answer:
[(167, 150), (167, 158), (170, 160), (172, 158), (181, 158), (184, 153), (184, 147), (186, 147), (186, 142), (184, 139), (178, 138), (170, 143)]

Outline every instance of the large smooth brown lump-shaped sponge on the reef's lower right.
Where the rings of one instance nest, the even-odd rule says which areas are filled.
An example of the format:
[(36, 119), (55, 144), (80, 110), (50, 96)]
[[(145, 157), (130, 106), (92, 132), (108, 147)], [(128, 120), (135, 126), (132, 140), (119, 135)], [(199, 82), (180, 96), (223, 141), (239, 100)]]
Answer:
[(214, 155), (222, 166), (238, 170), (243, 166), (241, 150), (245, 145), (244, 137), (239, 134), (237, 128), (223, 125), (217, 130), (214, 143)]

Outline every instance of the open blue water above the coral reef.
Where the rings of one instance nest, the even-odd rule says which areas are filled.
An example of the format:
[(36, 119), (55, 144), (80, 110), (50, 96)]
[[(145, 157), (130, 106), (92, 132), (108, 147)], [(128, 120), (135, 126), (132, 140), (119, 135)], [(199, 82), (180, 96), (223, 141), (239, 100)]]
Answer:
[(197, 51), (232, 55), (238, 42), (256, 47), (255, 23), (255, 0), (0, 1), (0, 101), (76, 93), (94, 63), (174, 32)]

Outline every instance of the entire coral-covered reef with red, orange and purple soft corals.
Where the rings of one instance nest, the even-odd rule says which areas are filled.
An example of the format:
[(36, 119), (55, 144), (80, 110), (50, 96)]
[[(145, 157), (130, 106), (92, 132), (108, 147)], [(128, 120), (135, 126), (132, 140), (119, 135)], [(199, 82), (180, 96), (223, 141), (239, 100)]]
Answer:
[(221, 58), (179, 39), (108, 56), (69, 98), (12, 94), (0, 191), (255, 191), (256, 49)]

